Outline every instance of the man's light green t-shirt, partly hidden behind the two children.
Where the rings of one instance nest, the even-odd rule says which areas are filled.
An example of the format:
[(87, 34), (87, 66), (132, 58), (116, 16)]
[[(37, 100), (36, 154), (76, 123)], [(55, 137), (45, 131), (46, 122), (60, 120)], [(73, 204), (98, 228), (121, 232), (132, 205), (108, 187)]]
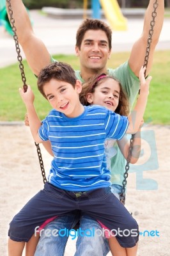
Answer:
[[(53, 61), (56, 60), (52, 59), (52, 62)], [(134, 103), (137, 93), (139, 92), (139, 78), (135, 76), (134, 72), (132, 72), (130, 69), (128, 61), (120, 65), (118, 68), (108, 68), (107, 74), (109, 76), (116, 77), (120, 81), (124, 92), (127, 93), (131, 107)], [(84, 82), (82, 80), (80, 70), (75, 70), (75, 75), (77, 79), (79, 79), (82, 83)], [(126, 161), (125, 157), (121, 154), (117, 143), (115, 143), (114, 148), (116, 149), (117, 154), (111, 158), (111, 182), (112, 184), (122, 185)]]

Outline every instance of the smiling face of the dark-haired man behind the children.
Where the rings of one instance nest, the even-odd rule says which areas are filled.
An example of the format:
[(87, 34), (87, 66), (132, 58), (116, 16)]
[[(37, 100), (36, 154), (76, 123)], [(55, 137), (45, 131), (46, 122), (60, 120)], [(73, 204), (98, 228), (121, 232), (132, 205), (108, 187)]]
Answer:
[(81, 70), (89, 70), (89, 72), (103, 70), (111, 55), (107, 36), (100, 29), (86, 31), (82, 38), (81, 49), (76, 46), (75, 51), (80, 58)]

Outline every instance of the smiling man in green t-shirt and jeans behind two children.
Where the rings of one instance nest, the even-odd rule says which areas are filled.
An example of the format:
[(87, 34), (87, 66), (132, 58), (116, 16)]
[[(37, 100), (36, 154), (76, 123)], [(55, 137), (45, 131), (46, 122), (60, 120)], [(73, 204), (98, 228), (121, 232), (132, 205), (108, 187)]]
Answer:
[[(24, 50), (27, 62), (33, 70), (34, 74), (38, 76), (40, 70), (49, 64), (52, 60), (47, 48), (43, 42), (36, 37), (31, 27), (29, 17), (27, 15), (24, 4), (21, 0), (11, 0), (13, 16), (15, 18), (15, 26), (17, 27), (17, 35), (19, 37), (19, 43)], [(143, 33), (139, 40), (135, 42), (130, 53), (130, 58), (127, 63), (123, 63), (116, 70), (111, 68), (107, 70), (106, 64), (107, 60), (111, 55), (111, 31), (103, 23), (100, 27), (100, 22), (94, 22), (92, 20), (85, 21), (85, 23), (80, 26), (77, 32), (77, 42), (75, 46), (75, 52), (79, 56), (80, 60), (80, 71), (76, 71), (76, 76), (81, 81), (87, 81), (89, 77), (93, 76), (97, 72), (108, 74), (114, 74), (118, 79), (120, 79), (123, 88), (128, 94), (130, 103), (135, 99), (135, 95), (139, 90), (139, 70), (144, 63), (144, 56), (146, 54), (146, 46), (148, 40), (148, 33), (150, 30), (151, 13), (153, 12), (153, 3), (155, 0), (150, 0), (148, 8), (146, 10), (146, 15), (144, 17), (144, 27)], [(160, 36), (160, 31), (162, 29), (162, 24), (164, 20), (164, 1), (158, 1), (157, 17), (153, 33), (153, 39), (150, 49), (150, 58), (148, 61), (148, 68), (146, 71), (146, 76), (151, 70), (151, 65), (153, 63), (153, 53)], [(98, 23), (98, 25), (97, 25)], [(92, 25), (91, 25), (92, 24)], [(86, 25), (86, 26), (85, 26)], [(116, 164), (113, 164), (116, 161)], [(121, 185), (123, 179), (123, 172), (125, 168), (125, 160), (121, 156), (120, 151), (117, 149), (116, 159), (112, 161), (111, 169), (114, 170), (112, 173), (112, 183)], [(70, 214), (70, 216), (62, 216), (56, 219), (56, 225), (54, 228), (72, 228), (73, 221), (75, 220), (75, 214)], [(47, 228), (52, 228), (53, 223), (49, 223)], [(58, 228), (59, 227), (59, 228)], [(101, 227), (94, 220), (88, 216), (82, 216), (81, 218), (81, 228), (82, 230), (95, 227), (96, 229), (101, 229)], [(40, 243), (38, 243), (38, 250), (35, 255), (63, 255), (63, 250), (65, 249), (67, 237), (45, 237), (42, 236)], [(45, 243), (45, 246), (44, 246)], [(62, 244), (61, 244), (62, 243)], [(59, 244), (59, 245), (58, 245)], [(95, 237), (79, 237), (77, 241), (77, 252), (76, 256), (87, 256), (88, 253), (91, 255), (107, 255), (109, 251), (107, 247), (107, 240), (102, 236)], [(50, 254), (51, 253), (51, 254)], [(31, 254), (30, 254), (31, 255)], [(116, 255), (117, 256), (117, 255)]]

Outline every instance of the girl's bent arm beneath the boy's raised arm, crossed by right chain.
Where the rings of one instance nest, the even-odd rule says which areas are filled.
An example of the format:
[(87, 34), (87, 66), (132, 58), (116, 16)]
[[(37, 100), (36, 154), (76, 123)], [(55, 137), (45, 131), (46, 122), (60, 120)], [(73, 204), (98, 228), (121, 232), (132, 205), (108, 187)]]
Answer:
[[(141, 127), (143, 125), (143, 122), (141, 122), (141, 125), (139, 127), (139, 130), (134, 134), (134, 143), (132, 148), (132, 156), (130, 158), (130, 163), (135, 164), (137, 160), (139, 159), (140, 152), (141, 152)], [(117, 141), (118, 147), (120, 148), (121, 153), (127, 160), (128, 158), (128, 150), (130, 147), (130, 143), (127, 140), (127, 136), (123, 136), (121, 140)]]

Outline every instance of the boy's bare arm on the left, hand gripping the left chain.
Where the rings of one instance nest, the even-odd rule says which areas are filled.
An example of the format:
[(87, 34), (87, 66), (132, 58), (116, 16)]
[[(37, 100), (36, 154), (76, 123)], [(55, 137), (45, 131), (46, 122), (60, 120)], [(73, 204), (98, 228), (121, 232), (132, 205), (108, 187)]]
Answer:
[(42, 143), (43, 140), (40, 138), (38, 134), (38, 129), (41, 127), (42, 123), (35, 111), (35, 95), (33, 94), (33, 91), (31, 90), (31, 87), (29, 85), (27, 86), (27, 92), (24, 92), (24, 90), (21, 88), (19, 88), (19, 92), (23, 102), (26, 105), (27, 117), (29, 118), (29, 127), (31, 130), (31, 134), (36, 143)]

